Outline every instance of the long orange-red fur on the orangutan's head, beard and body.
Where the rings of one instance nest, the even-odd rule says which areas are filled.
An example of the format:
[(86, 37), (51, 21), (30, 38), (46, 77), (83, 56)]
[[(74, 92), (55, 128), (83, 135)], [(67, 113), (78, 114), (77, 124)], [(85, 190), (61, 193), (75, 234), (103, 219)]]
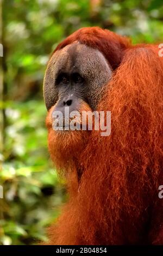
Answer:
[[(57, 50), (73, 41), (98, 48), (113, 69), (118, 66), (98, 106), (99, 111), (111, 111), (111, 135), (71, 132), (64, 142), (59, 137), (56, 142), (49, 111), (49, 150), (54, 163), (67, 173), (70, 193), (57, 224), (49, 229), (49, 244), (163, 244), (163, 199), (158, 198), (158, 186), (163, 184), (159, 48), (132, 46), (110, 31), (83, 28)], [(66, 161), (56, 150), (63, 143)], [(79, 167), (83, 174), (78, 184)]]

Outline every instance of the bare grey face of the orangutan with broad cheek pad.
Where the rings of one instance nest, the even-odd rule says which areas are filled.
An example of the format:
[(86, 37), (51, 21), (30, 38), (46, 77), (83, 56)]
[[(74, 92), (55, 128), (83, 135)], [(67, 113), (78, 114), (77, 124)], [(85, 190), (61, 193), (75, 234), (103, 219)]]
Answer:
[(101, 100), (104, 86), (112, 70), (103, 54), (79, 42), (55, 52), (49, 60), (44, 78), (44, 98), (47, 109), (70, 112), (86, 102), (95, 111)]

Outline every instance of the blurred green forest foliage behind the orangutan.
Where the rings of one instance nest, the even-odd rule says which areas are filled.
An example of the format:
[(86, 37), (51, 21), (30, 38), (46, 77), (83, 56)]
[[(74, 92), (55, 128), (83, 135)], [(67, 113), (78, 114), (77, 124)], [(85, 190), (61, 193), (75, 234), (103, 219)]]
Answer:
[[(46, 241), (67, 200), (49, 159), (42, 82), (49, 54), (81, 27), (163, 42), (162, 0), (0, 0), (0, 244)], [(161, 41), (162, 40), (162, 41)]]

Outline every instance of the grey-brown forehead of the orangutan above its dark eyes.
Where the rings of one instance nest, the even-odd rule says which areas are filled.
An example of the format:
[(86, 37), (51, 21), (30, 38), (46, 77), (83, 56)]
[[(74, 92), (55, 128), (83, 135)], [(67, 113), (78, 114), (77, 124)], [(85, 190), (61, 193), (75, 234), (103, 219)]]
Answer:
[(55, 52), (50, 63), (56, 73), (78, 72), (83, 76), (89, 75), (89, 73), (92, 75), (97, 69), (99, 72), (107, 71), (109, 68), (109, 64), (101, 52), (79, 42), (74, 42)]

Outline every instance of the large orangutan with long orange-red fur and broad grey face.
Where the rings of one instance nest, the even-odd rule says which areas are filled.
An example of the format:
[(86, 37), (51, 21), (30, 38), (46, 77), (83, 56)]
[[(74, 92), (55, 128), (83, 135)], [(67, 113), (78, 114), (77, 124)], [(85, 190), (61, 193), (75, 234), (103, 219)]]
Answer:
[[(50, 245), (163, 244), (163, 58), (98, 27), (55, 49), (44, 97), (48, 147), (70, 199)], [(55, 111), (111, 111), (111, 134), (52, 127)]]

